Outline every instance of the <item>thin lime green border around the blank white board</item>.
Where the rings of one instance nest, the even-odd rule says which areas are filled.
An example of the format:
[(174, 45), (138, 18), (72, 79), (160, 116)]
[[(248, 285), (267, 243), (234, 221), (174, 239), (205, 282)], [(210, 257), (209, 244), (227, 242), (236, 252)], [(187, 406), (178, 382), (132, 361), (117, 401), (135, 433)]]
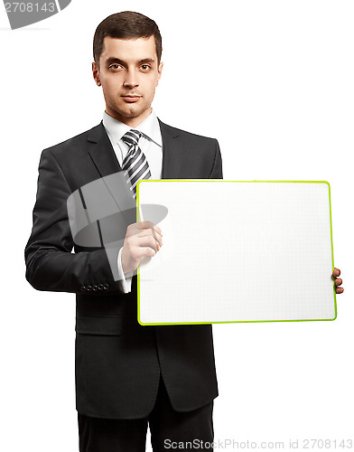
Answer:
[[(328, 194), (330, 201), (330, 222), (331, 222), (331, 185), (327, 181), (225, 181), (223, 179), (143, 179), (136, 184), (136, 221), (139, 220), (139, 185), (141, 183), (148, 184), (149, 182), (219, 182), (219, 183), (244, 183), (244, 184), (327, 184)], [(332, 270), (334, 269), (334, 257), (333, 257), (333, 238), (332, 238), (332, 222), (331, 222), (331, 259), (332, 259)], [(311, 319), (298, 319), (298, 320), (232, 320), (225, 322), (183, 322), (183, 323), (156, 323), (156, 324), (143, 324), (140, 321), (140, 268), (137, 268), (137, 321), (142, 326), (155, 326), (155, 325), (210, 325), (210, 324), (265, 324), (265, 323), (275, 323), (275, 322), (326, 322), (333, 321), (337, 318), (337, 297), (336, 297), (336, 287), (333, 278), (333, 296), (334, 296), (334, 317), (333, 318), (311, 318)]]

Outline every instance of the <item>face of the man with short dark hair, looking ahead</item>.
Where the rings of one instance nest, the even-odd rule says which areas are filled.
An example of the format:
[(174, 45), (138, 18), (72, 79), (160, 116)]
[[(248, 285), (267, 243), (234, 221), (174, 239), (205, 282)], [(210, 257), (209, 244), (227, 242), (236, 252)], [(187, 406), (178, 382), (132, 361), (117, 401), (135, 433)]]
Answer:
[(94, 79), (102, 85), (107, 114), (131, 127), (150, 115), (162, 71), (163, 63), (157, 65), (154, 36), (126, 40), (106, 37), (99, 69), (92, 63)]

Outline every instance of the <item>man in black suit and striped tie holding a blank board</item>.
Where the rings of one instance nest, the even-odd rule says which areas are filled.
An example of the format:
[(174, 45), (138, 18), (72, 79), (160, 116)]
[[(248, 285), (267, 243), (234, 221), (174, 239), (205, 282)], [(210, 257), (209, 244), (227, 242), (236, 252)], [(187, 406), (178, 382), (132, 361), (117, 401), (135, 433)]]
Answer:
[(131, 224), (123, 248), (115, 250), (114, 278), (103, 244), (74, 243), (67, 212), (71, 193), (109, 174), (125, 174), (133, 198), (139, 178), (222, 178), (217, 140), (154, 115), (161, 53), (154, 21), (132, 12), (107, 17), (95, 33), (92, 63), (106, 102), (103, 121), (41, 156), (26, 278), (39, 290), (77, 294), (81, 452), (143, 451), (148, 424), (156, 451), (172, 441), (198, 440), (195, 448), (202, 448), (213, 440), (218, 386), (211, 325), (137, 323), (132, 274), (163, 246), (162, 231), (150, 222)]

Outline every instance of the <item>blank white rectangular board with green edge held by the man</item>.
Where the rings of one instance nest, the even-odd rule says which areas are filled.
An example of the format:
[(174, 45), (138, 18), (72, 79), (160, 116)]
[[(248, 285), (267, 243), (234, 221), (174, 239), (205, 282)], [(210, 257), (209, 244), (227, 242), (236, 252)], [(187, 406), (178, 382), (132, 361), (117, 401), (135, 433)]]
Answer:
[(142, 181), (137, 193), (138, 221), (163, 231), (138, 270), (140, 324), (335, 319), (328, 183)]

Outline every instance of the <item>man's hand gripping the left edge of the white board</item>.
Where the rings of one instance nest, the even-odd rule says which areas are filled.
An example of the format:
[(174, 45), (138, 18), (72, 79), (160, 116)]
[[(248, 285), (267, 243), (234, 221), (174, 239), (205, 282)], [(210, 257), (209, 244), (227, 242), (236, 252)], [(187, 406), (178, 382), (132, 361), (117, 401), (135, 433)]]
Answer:
[(125, 273), (139, 267), (144, 256), (154, 256), (163, 246), (163, 233), (152, 221), (141, 221), (126, 228), (121, 254), (122, 268)]

